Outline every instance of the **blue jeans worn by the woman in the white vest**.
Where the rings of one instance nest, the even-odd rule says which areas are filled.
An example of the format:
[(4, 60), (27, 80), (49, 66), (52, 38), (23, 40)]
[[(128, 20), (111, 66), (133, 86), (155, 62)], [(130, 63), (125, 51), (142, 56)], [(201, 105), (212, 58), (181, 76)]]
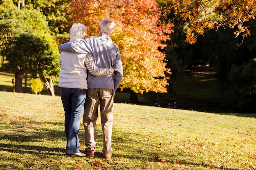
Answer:
[(65, 111), (66, 152), (77, 153), (80, 147), (78, 133), (86, 89), (61, 87), (60, 90), (61, 101)]

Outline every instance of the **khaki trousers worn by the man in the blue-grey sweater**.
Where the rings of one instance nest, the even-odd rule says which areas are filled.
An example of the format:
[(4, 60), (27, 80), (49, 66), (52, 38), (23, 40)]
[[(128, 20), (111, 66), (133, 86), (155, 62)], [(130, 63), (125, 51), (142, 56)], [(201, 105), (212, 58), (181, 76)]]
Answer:
[(85, 151), (95, 150), (96, 121), (98, 106), (101, 112), (101, 127), (103, 131), (103, 155), (112, 155), (111, 136), (113, 125), (114, 91), (107, 88), (88, 88), (85, 99), (83, 125), (85, 128)]

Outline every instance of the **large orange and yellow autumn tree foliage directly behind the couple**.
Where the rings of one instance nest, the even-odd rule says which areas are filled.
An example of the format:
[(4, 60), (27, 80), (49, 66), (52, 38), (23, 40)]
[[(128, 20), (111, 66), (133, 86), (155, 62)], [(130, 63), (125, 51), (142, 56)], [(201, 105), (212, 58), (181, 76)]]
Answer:
[[(165, 54), (158, 51), (169, 40), (172, 24), (159, 24), (161, 13), (155, 0), (76, 0), (70, 1), (69, 22), (88, 26), (88, 36), (99, 35), (99, 22), (111, 18), (116, 30), (111, 39), (121, 52), (124, 78), (121, 89), (135, 93), (166, 92)], [(166, 35), (167, 33), (167, 35)]]

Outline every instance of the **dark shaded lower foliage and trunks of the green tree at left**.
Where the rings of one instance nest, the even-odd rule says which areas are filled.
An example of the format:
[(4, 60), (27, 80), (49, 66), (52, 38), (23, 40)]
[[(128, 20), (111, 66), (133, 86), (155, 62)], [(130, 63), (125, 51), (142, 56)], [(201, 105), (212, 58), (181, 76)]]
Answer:
[(38, 75), (45, 83), (48, 93), (54, 95), (51, 76), (58, 75), (57, 56), (57, 53), (54, 55), (50, 50), (49, 42), (45, 38), (27, 34), (20, 35), (17, 40), (13, 41), (7, 53), (8, 65), (15, 73), (15, 91), (21, 93), (23, 74), (27, 72)]

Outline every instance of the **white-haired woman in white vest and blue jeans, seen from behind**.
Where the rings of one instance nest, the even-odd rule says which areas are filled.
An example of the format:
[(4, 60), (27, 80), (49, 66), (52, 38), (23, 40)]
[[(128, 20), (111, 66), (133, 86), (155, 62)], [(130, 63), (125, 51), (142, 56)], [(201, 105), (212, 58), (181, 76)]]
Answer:
[[(70, 29), (70, 42), (85, 39), (86, 26), (73, 24)], [(59, 84), (61, 101), (65, 111), (65, 132), (67, 137), (66, 154), (68, 156), (85, 157), (79, 147), (79, 127), (85, 103), (87, 86), (87, 71), (96, 76), (110, 75), (113, 68), (98, 68), (90, 54), (61, 52), (61, 73)]]

